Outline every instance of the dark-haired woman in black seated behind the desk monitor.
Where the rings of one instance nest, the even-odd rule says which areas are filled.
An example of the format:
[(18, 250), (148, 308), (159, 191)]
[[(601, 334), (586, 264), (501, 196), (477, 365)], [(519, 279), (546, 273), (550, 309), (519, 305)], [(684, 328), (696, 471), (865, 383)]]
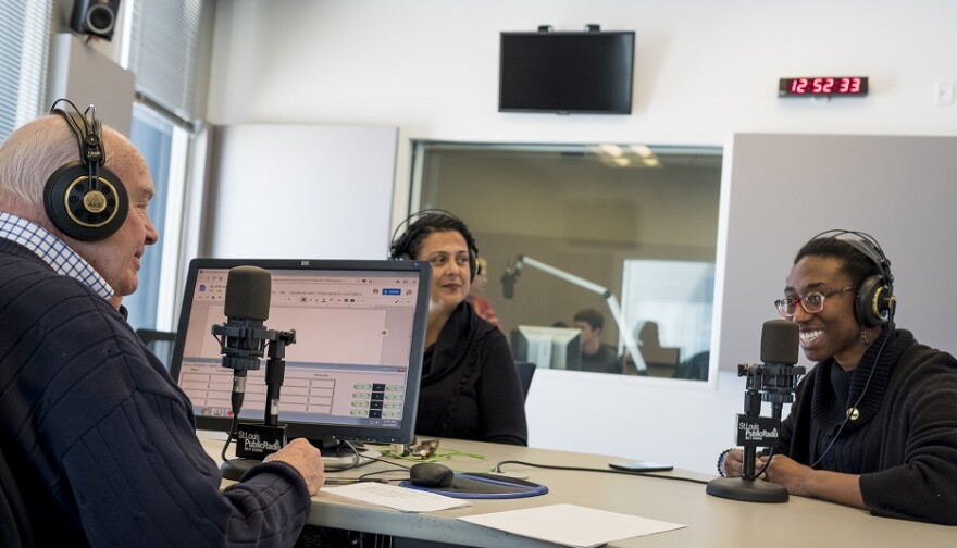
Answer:
[(525, 406), (505, 335), (467, 301), (478, 250), (460, 219), (413, 215), (393, 259), (432, 264), (417, 434), (527, 445)]

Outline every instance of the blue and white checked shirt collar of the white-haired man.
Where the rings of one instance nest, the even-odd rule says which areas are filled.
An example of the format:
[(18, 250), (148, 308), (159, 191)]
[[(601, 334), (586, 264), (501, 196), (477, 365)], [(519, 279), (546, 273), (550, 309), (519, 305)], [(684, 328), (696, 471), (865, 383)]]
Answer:
[(0, 211), (0, 238), (29, 249), (57, 273), (83, 282), (103, 299), (110, 300), (113, 297), (113, 288), (103, 276), (76, 251), (70, 249), (63, 240), (42, 226)]

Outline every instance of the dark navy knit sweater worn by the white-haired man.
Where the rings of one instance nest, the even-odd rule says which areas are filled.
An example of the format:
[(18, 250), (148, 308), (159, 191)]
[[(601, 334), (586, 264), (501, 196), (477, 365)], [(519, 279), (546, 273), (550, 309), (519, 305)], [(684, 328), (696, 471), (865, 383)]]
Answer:
[(5, 239), (0, 436), (38, 546), (293, 546), (309, 515), (284, 463), (220, 490), (189, 401), (123, 316)]

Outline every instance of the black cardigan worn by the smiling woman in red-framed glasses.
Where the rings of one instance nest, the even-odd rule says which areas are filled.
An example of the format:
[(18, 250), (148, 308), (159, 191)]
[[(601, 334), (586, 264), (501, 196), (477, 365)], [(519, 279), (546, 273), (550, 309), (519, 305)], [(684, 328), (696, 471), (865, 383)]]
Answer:
[[(841, 426), (848, 403), (832, 389), (837, 366), (833, 359), (815, 366), (784, 421), (781, 447), (800, 463), (819, 459)], [(860, 448), (865, 506), (874, 515), (957, 524), (957, 360), (885, 328), (854, 371), (849, 401), (858, 398), (860, 418), (840, 437)]]

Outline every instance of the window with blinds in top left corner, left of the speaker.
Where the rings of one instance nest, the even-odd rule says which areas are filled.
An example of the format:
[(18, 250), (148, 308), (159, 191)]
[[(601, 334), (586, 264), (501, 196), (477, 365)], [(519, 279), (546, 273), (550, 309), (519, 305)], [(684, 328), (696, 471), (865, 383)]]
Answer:
[(0, 10), (0, 141), (46, 111), (52, 13), (52, 0), (3, 2)]

